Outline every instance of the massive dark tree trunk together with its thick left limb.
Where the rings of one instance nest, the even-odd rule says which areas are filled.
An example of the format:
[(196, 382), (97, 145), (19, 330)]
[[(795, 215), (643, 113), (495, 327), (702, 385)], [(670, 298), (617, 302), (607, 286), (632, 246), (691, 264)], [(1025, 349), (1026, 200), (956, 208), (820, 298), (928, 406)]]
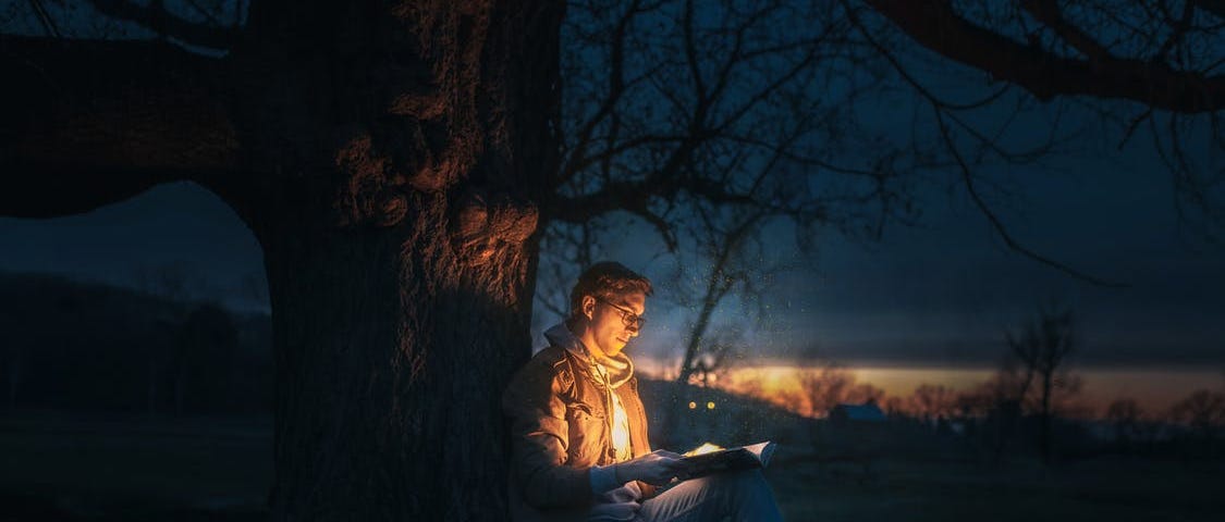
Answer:
[[(265, 253), (273, 518), (505, 520), (499, 399), (530, 355), (564, 4), (318, 4), (257, 2), (223, 60), (6, 39), (33, 66), (0, 87), (27, 106), (2, 175), (36, 187), (0, 214), (208, 187)], [(38, 88), (56, 56), (78, 67), (44, 83), (72, 97)]]

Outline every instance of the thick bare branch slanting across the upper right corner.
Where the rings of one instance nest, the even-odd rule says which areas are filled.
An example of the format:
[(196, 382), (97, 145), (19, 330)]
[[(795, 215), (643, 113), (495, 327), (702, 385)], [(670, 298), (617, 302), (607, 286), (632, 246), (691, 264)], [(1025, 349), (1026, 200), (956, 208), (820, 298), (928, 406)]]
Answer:
[(986, 71), (1047, 100), (1056, 95), (1128, 99), (1199, 114), (1225, 108), (1225, 77), (1176, 71), (1166, 64), (1100, 57), (1072, 60), (1022, 45), (954, 12), (947, 0), (865, 0), (920, 45)]

